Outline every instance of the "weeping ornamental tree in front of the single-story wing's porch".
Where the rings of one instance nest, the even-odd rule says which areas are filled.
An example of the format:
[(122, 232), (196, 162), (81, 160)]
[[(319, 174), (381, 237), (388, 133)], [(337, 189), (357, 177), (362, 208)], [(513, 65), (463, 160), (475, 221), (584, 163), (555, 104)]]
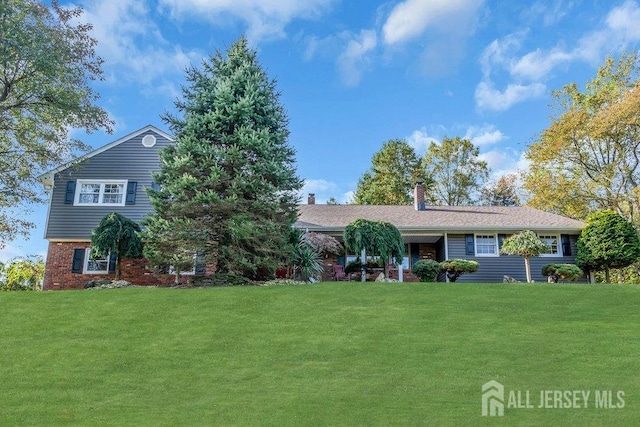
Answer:
[[(404, 242), (398, 229), (391, 223), (357, 219), (344, 229), (344, 245), (347, 251), (361, 254), (363, 250), (368, 255), (379, 256), (384, 263), (384, 275), (388, 276), (386, 260), (391, 257), (394, 263), (402, 263), (404, 257)], [(366, 260), (361, 260), (366, 266)], [(362, 280), (365, 274), (363, 268)]]

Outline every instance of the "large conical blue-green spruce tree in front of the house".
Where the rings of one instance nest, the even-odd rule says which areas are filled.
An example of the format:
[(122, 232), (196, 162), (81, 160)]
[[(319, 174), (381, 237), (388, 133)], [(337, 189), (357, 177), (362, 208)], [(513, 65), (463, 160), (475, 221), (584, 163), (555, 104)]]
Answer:
[[(187, 81), (180, 115), (163, 117), (176, 144), (161, 152), (159, 189), (149, 191), (149, 223), (162, 220), (165, 232), (151, 227), (147, 239), (201, 252), (221, 273), (272, 272), (286, 256), (302, 187), (275, 80), (241, 38), (226, 56), (188, 69)], [(172, 224), (175, 234), (166, 232)]]

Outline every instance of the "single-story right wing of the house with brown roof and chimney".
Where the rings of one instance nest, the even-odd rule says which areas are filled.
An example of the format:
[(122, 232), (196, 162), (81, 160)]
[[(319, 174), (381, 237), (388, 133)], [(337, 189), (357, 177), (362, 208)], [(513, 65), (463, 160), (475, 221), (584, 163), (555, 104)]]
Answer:
[[(551, 247), (549, 254), (531, 259), (533, 280), (547, 281), (541, 274), (550, 263), (574, 263), (576, 243), (584, 223), (526, 206), (426, 206), (424, 188), (417, 184), (413, 206), (317, 205), (310, 195), (300, 206), (295, 224), (309, 232), (326, 233), (342, 240), (345, 227), (363, 218), (395, 225), (405, 243), (403, 276), (411, 280), (411, 267), (420, 259), (463, 258), (478, 261), (477, 272), (459, 281), (502, 282), (505, 275), (526, 281), (520, 256), (501, 255), (502, 241), (522, 230), (532, 230)], [(327, 264), (344, 264), (334, 257)]]

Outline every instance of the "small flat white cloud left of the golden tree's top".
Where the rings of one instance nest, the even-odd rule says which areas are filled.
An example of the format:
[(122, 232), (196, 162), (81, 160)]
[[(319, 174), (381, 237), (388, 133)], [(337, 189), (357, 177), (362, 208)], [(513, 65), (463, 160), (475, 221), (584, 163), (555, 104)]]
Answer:
[(542, 83), (528, 85), (510, 83), (503, 90), (497, 90), (490, 81), (482, 81), (476, 87), (475, 99), (480, 109), (504, 111), (513, 105), (529, 99), (539, 98), (546, 92)]

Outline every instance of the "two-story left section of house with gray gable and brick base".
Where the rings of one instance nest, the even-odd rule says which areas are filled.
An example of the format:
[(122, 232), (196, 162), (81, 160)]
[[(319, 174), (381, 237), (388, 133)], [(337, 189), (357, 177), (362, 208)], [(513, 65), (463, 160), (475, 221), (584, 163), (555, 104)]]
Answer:
[[(82, 289), (91, 279), (112, 277), (113, 259), (89, 259), (91, 231), (110, 212), (140, 221), (152, 211), (145, 188), (160, 169), (158, 150), (173, 143), (146, 126), (42, 175), (49, 191), (44, 289)], [(123, 263), (122, 278), (137, 284), (166, 280), (144, 260)]]

